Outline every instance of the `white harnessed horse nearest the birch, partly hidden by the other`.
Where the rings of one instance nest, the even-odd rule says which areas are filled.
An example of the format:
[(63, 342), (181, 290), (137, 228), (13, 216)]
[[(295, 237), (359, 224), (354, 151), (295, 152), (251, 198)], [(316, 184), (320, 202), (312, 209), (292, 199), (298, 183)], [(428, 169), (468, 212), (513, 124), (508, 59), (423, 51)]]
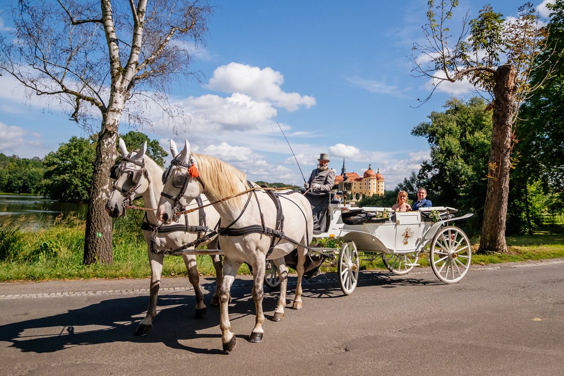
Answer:
[[(143, 197), (146, 207), (156, 208), (162, 191), (164, 170), (145, 154), (147, 151), (147, 141), (143, 144), (140, 151), (129, 153), (124, 141), (120, 138), (119, 149), (123, 159), (120, 164), (113, 167), (113, 178), (116, 181), (113, 184), (113, 190), (105, 206), (106, 211), (113, 218), (125, 215), (125, 205), (130, 205), (134, 198), (138, 196)], [(203, 199), (206, 200), (205, 197)], [(154, 209), (146, 211), (142, 228), (143, 237), (148, 246), (147, 254), (151, 266), (151, 285), (147, 315), (139, 323), (135, 335), (149, 334), (153, 326), (153, 319), (155, 319), (157, 314), (157, 297), (158, 289), (161, 285), (164, 254), (155, 254), (153, 250), (178, 249), (185, 244), (195, 241), (204, 234), (204, 232), (201, 232), (202, 227), (195, 227), (201, 225), (201, 219), (199, 212), (194, 211), (186, 216), (180, 216), (178, 224), (166, 226), (157, 220)], [(208, 207), (205, 210), (205, 222), (211, 229), (219, 222), (219, 214), (213, 207)], [(187, 232), (187, 229), (191, 231)], [(210, 247), (217, 247), (217, 237), (208, 241), (208, 243)], [(206, 242), (202, 244), (206, 244)], [(196, 318), (202, 319), (206, 316), (206, 306), (204, 304), (204, 294), (200, 286), (200, 277), (196, 268), (196, 256), (183, 254), (182, 258), (184, 259), (184, 264), (186, 264), (188, 279), (194, 287), (196, 294)], [(211, 304), (217, 306), (217, 286), (219, 286), (222, 277), (221, 256), (212, 256), (212, 260), (217, 285)]]

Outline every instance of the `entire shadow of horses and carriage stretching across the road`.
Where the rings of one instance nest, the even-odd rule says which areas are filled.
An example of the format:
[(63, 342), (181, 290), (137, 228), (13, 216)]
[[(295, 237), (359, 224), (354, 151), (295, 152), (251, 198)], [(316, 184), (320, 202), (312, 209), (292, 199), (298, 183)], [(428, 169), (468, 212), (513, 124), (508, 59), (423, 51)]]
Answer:
[[(254, 302), (250, 295), (251, 282), (241, 282), (243, 282), (242, 288), (231, 290), (232, 303), (229, 308), (231, 321), (255, 314)], [(357, 288), (380, 286), (389, 289), (407, 285), (437, 284), (442, 283), (413, 278), (413, 276), (407, 278), (363, 271), (360, 273)], [(290, 305), (295, 287), (296, 277), (290, 277), (287, 295), (287, 302)], [(303, 285), (304, 297), (327, 299), (343, 295), (336, 273), (323, 273), (305, 281)], [(43, 299), (37, 298), (37, 304), (41, 304)], [(11, 347), (19, 348), (23, 352), (36, 353), (56, 352), (73, 346), (118, 342), (164, 343), (170, 348), (195, 353), (223, 353), (218, 349), (196, 348), (179, 343), (180, 340), (206, 337), (217, 338), (217, 343), (220, 343), (219, 308), (212, 307), (208, 303), (208, 316), (196, 320), (193, 317), (193, 308), (196, 304), (193, 295), (161, 294), (158, 298), (158, 313), (151, 334), (146, 337), (135, 337), (133, 333), (146, 313), (148, 299), (148, 296), (112, 298), (79, 309), (70, 309), (55, 316), (2, 325), (0, 340), (11, 343)], [(265, 288), (263, 309), (267, 320), (271, 319), (274, 313), (277, 299), (277, 290)], [(217, 334), (199, 333), (214, 327), (217, 327)], [(252, 328), (249, 328), (249, 333), (250, 329)], [(246, 339), (244, 335), (237, 337)]]

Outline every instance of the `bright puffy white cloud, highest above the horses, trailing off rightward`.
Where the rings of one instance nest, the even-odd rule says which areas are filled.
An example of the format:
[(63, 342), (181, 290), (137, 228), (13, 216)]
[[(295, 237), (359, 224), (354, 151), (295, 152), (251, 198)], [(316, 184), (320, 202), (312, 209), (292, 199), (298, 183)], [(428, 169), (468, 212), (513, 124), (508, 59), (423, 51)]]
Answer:
[(283, 74), (270, 67), (261, 69), (229, 63), (214, 70), (207, 87), (211, 90), (248, 94), (258, 101), (272, 101), (277, 107), (289, 111), (295, 111), (301, 105), (307, 108), (315, 105), (315, 98), (312, 96), (302, 96), (297, 92), (285, 92), (280, 89), (283, 83)]

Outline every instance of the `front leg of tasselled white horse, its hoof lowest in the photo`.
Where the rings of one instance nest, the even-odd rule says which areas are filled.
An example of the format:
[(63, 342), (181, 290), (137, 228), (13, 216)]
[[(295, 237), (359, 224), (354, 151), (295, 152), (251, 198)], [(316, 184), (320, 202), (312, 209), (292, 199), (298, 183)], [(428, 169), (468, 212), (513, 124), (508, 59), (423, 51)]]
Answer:
[(231, 322), (229, 321), (229, 301), (231, 299), (231, 285), (241, 266), (240, 262), (223, 258), (223, 277), (219, 286), (219, 328), (221, 328), (221, 342), (223, 351), (229, 353), (235, 348), (237, 338), (231, 333)]

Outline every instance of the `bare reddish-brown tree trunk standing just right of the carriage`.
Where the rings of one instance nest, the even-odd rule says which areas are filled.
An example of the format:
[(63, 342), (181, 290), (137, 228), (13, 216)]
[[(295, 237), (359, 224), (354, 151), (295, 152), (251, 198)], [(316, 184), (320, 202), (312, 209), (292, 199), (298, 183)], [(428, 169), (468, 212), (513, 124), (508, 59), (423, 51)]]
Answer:
[(484, 205), (482, 236), (478, 253), (507, 252), (505, 227), (509, 197), (509, 170), (513, 147), (513, 116), (517, 110), (515, 69), (502, 65), (493, 88), (492, 143), (488, 163), (488, 186)]

